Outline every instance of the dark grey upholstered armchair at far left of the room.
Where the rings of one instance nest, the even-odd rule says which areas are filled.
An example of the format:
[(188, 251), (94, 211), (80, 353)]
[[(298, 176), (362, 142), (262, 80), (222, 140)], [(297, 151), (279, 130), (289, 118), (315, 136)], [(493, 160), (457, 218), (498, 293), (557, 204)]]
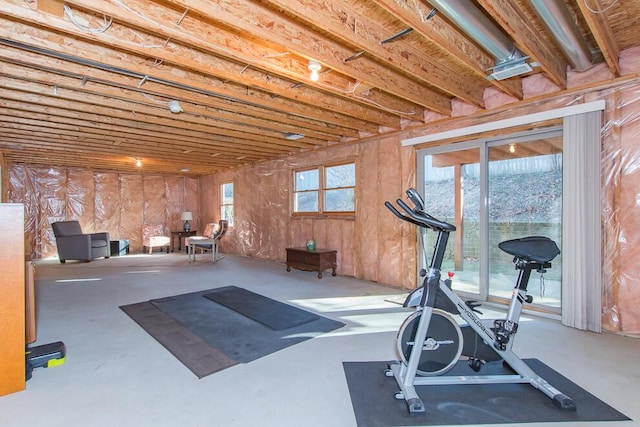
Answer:
[(59, 221), (51, 224), (61, 263), (68, 259), (89, 262), (92, 259), (111, 256), (109, 233), (82, 232), (78, 221)]

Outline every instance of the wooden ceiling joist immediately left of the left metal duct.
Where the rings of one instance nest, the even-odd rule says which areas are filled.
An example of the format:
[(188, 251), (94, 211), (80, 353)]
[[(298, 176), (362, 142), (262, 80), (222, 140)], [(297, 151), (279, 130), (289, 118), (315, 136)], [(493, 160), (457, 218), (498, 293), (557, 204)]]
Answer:
[[(424, 17), (428, 15), (431, 8), (423, 2), (418, 0), (402, 2), (396, 0), (373, 1), (403, 21), (408, 27), (413, 28), (421, 36), (435, 43), (443, 52), (447, 52), (461, 65), (468, 67), (478, 76), (486, 78), (488, 70), (495, 66), (493, 58), (466, 37), (463, 37), (438, 14), (426, 20)], [(522, 99), (522, 82), (520, 80), (520, 78), (490, 80), (489, 83), (513, 97)]]

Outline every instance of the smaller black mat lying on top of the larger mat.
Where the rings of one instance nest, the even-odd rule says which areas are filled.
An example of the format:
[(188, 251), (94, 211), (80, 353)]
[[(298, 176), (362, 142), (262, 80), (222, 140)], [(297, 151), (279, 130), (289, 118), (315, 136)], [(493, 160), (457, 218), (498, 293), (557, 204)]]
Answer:
[(319, 318), (308, 311), (235, 286), (216, 289), (204, 296), (276, 331)]

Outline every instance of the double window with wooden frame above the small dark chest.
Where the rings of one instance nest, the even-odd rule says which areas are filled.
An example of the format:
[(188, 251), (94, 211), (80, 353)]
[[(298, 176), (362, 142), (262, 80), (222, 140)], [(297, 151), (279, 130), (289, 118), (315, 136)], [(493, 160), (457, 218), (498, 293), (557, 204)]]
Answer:
[(294, 171), (294, 214), (353, 214), (356, 165), (341, 163)]

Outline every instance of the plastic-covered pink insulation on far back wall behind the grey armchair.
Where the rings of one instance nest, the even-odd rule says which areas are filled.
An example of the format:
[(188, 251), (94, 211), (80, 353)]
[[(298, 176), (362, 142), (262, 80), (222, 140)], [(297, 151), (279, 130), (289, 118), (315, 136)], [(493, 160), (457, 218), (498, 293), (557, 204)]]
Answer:
[[(144, 176), (13, 165), (9, 201), (25, 205), (26, 252), (55, 256), (51, 223), (76, 219), (83, 231), (108, 231), (142, 250), (142, 224), (182, 228), (180, 213), (198, 212), (198, 181), (180, 176)], [(198, 226), (197, 215), (194, 226)]]

